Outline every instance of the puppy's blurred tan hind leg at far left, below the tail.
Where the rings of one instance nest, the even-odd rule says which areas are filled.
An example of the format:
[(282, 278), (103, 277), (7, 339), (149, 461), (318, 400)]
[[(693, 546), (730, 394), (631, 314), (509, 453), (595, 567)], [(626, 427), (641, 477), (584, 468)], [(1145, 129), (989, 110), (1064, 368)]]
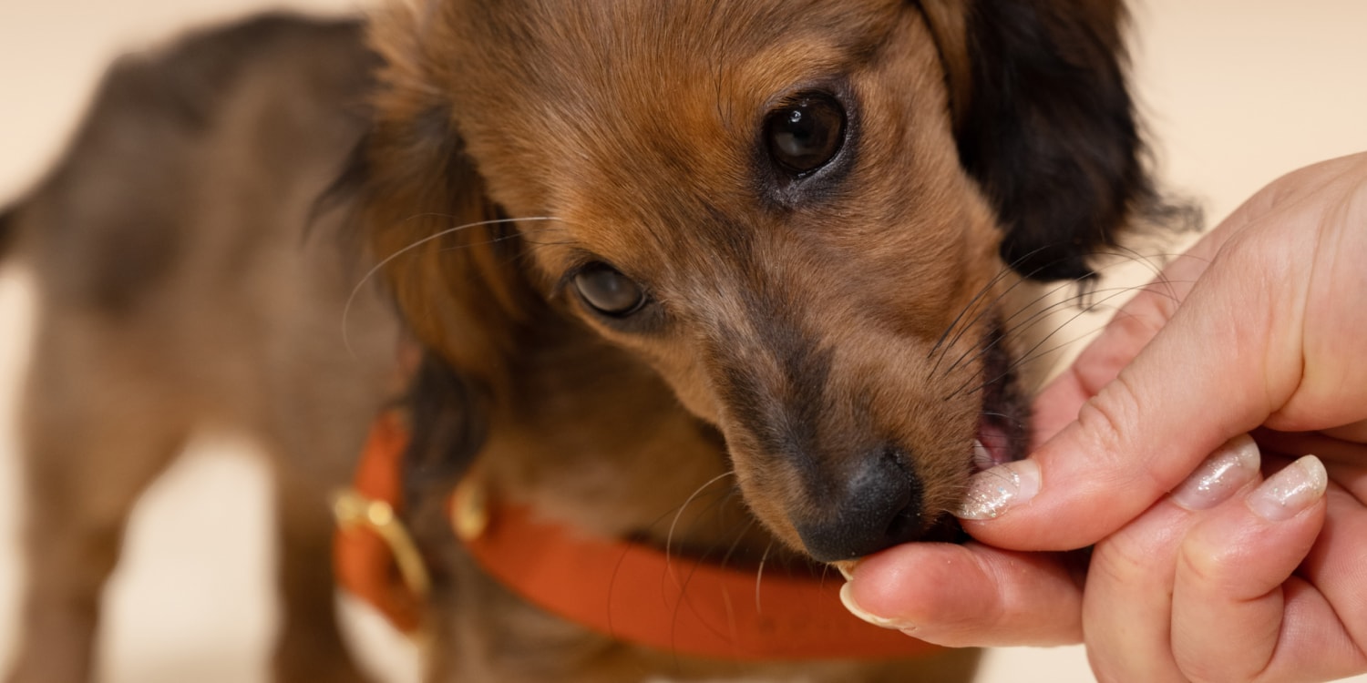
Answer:
[(175, 402), (145, 391), (127, 365), (83, 355), (103, 337), (62, 336), (40, 336), (21, 403), (27, 586), (11, 683), (90, 679), (124, 523), (187, 436)]

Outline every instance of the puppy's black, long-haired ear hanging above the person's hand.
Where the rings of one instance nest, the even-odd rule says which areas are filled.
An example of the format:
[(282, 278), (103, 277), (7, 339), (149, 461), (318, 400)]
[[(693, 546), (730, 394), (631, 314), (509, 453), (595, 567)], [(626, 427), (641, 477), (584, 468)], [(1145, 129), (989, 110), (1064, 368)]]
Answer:
[(950, 89), (960, 160), (1036, 280), (1087, 279), (1152, 201), (1113, 0), (921, 0)]

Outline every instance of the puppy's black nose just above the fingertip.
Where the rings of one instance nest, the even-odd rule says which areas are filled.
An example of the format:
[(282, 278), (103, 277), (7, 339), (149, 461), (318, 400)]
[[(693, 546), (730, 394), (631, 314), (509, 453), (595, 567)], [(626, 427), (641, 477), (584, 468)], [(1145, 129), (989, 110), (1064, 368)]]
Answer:
[(853, 560), (921, 535), (921, 485), (895, 448), (858, 458), (843, 482), (828, 482), (815, 516), (793, 519), (817, 561)]

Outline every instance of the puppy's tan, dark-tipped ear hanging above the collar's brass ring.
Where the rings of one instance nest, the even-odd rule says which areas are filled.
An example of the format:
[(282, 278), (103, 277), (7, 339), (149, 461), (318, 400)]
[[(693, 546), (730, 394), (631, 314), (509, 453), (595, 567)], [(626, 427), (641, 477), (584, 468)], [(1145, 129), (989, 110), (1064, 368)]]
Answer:
[[(499, 219), (440, 108), (377, 117), (334, 193), (355, 238), (379, 264), (410, 333), (424, 347), (405, 404), (411, 438), (403, 494), (440, 500), (484, 445), (509, 396), (534, 303), (521, 270), (522, 240)], [(427, 503), (424, 503), (427, 501)]]

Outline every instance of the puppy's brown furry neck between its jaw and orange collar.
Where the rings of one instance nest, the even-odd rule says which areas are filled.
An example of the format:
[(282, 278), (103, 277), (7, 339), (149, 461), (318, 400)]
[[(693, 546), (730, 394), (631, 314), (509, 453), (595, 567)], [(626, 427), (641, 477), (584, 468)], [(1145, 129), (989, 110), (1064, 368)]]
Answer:
[(741, 499), (720, 434), (634, 357), (584, 337), (530, 354), (478, 458), (491, 494), (604, 538), (755, 564), (787, 555)]

